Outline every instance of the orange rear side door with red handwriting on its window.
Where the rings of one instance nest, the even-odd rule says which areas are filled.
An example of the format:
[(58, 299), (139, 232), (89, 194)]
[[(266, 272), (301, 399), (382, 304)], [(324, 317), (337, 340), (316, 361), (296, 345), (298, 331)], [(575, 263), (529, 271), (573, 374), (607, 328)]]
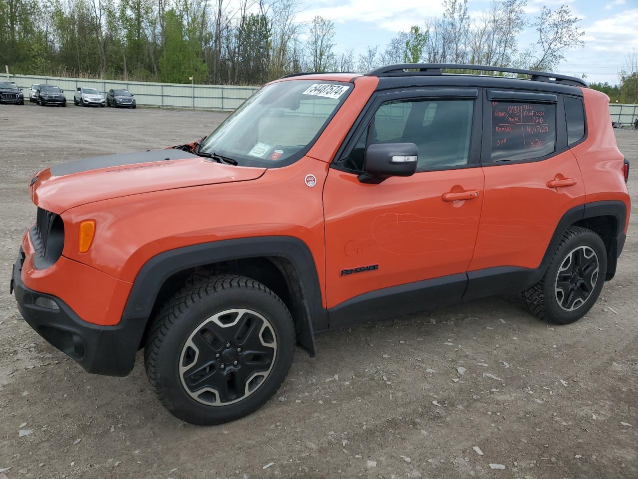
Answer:
[[(584, 202), (581, 172), (567, 146), (563, 96), (503, 90), (485, 95), (485, 197), (466, 297), (486, 288), (516, 288), (515, 277), (524, 283), (529, 270), (540, 266), (560, 218)], [(503, 282), (510, 273), (512, 281)], [(496, 277), (502, 288), (491, 283)]]

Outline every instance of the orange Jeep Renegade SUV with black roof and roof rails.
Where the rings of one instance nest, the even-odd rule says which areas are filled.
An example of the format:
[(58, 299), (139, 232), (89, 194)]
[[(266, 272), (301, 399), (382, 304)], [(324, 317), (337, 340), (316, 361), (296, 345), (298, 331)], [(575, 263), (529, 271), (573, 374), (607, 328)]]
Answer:
[(124, 376), (144, 349), (197, 424), (262, 406), (316, 331), (521, 291), (572, 323), (627, 233), (608, 100), (488, 66), (283, 77), (202, 141), (38, 172), (19, 310), (89, 372)]

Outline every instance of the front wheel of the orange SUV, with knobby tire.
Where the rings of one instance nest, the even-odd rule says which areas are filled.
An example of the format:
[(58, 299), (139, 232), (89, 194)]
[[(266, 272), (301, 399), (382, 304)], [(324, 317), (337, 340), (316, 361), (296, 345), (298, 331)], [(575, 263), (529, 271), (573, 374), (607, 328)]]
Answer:
[(177, 418), (232, 421), (263, 406), (290, 370), (295, 328), (276, 294), (246, 277), (191, 278), (152, 324), (144, 364)]

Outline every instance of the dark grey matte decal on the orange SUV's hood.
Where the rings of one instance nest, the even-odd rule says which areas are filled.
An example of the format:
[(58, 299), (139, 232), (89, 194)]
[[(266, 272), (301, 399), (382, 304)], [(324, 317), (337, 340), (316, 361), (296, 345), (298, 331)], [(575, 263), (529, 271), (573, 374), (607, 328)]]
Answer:
[(96, 156), (84, 160), (61, 163), (51, 167), (53, 176), (80, 173), (114, 166), (134, 165), (135, 163), (163, 162), (165, 160), (182, 160), (184, 158), (198, 158), (197, 155), (179, 149), (154, 149), (151, 151), (136, 151), (135, 153), (120, 153), (119, 155)]

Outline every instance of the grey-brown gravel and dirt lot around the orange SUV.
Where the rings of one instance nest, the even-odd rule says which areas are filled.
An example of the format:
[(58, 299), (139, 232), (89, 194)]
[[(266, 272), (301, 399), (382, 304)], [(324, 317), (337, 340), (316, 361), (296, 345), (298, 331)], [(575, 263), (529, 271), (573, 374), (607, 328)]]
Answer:
[[(507, 297), (324, 333), (315, 359), (297, 351), (265, 407), (219, 427), (170, 416), (141, 355), (130, 376), (101, 377), (49, 346), (8, 294), (35, 216), (31, 174), (188, 142), (223, 118), (0, 105), (0, 469), (11, 468), (8, 478), (638, 477), (635, 206), (616, 278), (578, 323), (543, 323)], [(619, 131), (618, 141), (638, 165), (638, 132)], [(638, 167), (632, 176), (638, 204)], [(19, 437), (20, 429), (33, 432)]]

